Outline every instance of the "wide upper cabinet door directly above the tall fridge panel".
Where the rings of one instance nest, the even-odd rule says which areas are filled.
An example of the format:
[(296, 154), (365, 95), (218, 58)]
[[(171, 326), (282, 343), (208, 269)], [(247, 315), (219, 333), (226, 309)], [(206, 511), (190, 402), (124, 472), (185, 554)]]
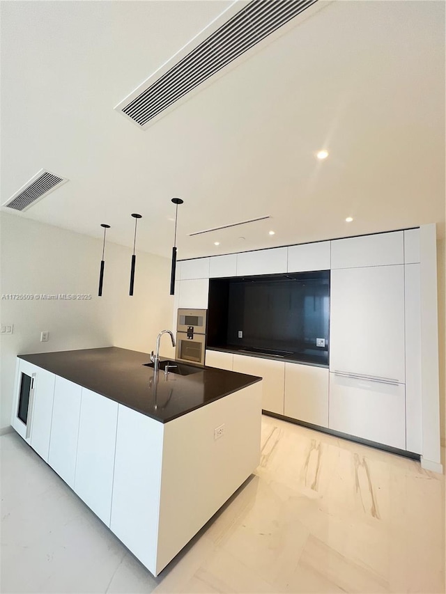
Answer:
[(403, 231), (346, 237), (331, 242), (332, 268), (384, 266), (404, 263)]

